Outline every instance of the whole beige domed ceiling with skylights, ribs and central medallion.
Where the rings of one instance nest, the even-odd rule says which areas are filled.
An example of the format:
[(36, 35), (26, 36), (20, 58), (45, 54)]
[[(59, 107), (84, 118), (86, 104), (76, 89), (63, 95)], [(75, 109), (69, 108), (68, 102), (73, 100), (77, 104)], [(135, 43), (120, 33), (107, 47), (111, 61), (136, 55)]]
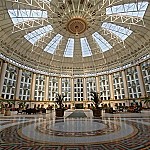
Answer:
[(149, 0), (1, 0), (0, 6), (1, 43), (11, 47), (1, 53), (48, 72), (123, 66), (150, 39)]

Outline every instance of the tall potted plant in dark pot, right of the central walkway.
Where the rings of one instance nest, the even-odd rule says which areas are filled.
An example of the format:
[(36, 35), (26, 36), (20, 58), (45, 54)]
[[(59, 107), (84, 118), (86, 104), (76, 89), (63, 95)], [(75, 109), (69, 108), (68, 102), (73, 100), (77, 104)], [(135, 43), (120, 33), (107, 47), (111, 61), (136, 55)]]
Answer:
[(102, 109), (99, 108), (99, 104), (102, 102), (102, 100), (100, 100), (100, 96), (102, 95), (102, 93), (98, 93), (94, 90), (91, 90), (90, 95), (92, 97), (94, 106), (93, 107), (93, 116), (94, 117), (100, 117), (102, 115)]

